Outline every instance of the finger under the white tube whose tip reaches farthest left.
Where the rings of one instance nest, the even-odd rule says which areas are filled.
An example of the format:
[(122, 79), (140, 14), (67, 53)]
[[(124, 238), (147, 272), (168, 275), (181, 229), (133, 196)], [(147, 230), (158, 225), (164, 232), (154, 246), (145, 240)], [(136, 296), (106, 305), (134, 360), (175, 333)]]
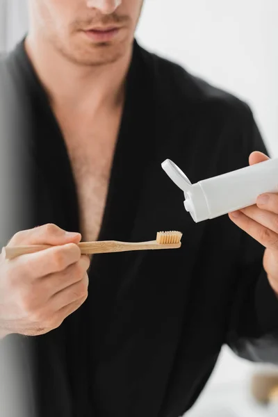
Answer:
[(244, 230), (264, 247), (275, 250), (278, 249), (278, 234), (276, 234), (275, 231), (256, 222), (256, 220), (253, 220), (241, 211), (229, 213), (229, 218), (240, 227), (240, 229)]

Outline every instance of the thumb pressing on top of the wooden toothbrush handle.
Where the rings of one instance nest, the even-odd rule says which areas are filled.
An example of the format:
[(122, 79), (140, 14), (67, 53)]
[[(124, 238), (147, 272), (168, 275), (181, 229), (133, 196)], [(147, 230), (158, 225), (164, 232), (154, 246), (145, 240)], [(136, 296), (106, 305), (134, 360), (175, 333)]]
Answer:
[(7, 246), (17, 245), (65, 245), (65, 243), (79, 243), (81, 234), (67, 232), (56, 224), (44, 224), (34, 229), (22, 230), (11, 238)]

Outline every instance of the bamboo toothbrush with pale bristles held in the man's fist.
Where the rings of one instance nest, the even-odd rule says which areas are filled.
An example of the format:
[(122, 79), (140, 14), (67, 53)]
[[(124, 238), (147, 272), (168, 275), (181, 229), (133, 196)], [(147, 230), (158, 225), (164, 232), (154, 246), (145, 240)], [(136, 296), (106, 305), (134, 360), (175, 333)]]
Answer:
[[(181, 247), (180, 231), (158, 231), (156, 240), (149, 242), (118, 242), (117, 240), (100, 240), (97, 242), (81, 242), (78, 246), (81, 249), (81, 254), (105, 254), (111, 252), (128, 252), (134, 250), (155, 250), (155, 249), (178, 249)], [(41, 250), (53, 247), (52, 245), (28, 245), (28, 246), (14, 246), (3, 247), (2, 253), (6, 259), (13, 259), (23, 254), (31, 254), (40, 252)]]

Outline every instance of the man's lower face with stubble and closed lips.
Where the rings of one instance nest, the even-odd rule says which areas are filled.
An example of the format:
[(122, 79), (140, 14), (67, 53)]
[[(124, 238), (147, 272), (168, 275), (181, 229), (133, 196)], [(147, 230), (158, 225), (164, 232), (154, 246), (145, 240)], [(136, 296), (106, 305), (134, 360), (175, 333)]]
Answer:
[(29, 0), (31, 35), (79, 65), (113, 63), (129, 51), (144, 0)]

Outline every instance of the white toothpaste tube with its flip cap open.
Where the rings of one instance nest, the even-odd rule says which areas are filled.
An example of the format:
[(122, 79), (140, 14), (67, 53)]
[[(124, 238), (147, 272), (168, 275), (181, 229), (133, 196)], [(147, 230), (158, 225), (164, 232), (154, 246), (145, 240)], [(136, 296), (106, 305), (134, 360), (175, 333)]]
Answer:
[(179, 167), (169, 159), (163, 170), (186, 197), (184, 205), (195, 222), (217, 218), (220, 215), (256, 204), (263, 193), (278, 193), (278, 158), (269, 159), (218, 177), (191, 184)]

